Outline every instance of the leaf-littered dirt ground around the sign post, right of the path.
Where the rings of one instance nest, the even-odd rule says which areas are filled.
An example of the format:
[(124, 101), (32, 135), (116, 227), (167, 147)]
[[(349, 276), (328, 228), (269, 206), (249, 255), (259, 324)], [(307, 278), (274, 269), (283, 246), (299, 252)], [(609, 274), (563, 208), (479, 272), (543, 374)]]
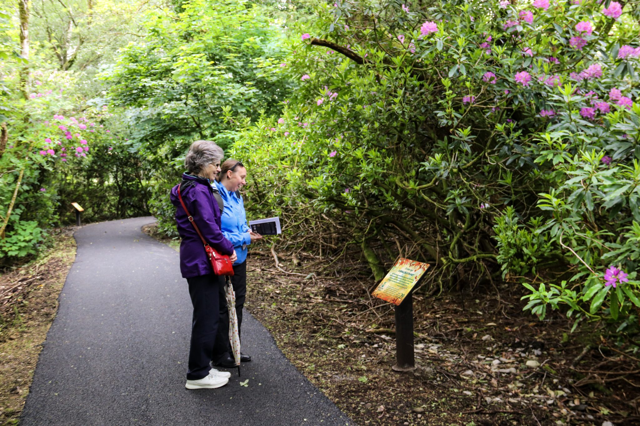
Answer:
[(518, 287), (502, 285), (500, 300), (481, 291), (428, 298), (421, 289), (417, 368), (398, 373), (393, 308), (369, 297), (367, 271), (307, 278), (319, 259), (305, 260), (307, 271), (283, 262), (283, 273), (271, 256), (250, 257), (247, 307), (360, 425), (640, 424), (640, 360), (605, 341), (576, 360), (589, 334), (570, 335), (562, 316), (525, 314)]

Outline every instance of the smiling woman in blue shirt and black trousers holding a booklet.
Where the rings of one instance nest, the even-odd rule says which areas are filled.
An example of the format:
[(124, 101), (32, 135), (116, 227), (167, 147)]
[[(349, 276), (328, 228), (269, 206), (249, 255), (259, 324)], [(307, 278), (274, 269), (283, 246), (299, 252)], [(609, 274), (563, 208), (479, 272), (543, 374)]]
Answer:
[[(246, 296), (246, 254), (247, 246), (253, 241), (260, 240), (262, 236), (252, 232), (246, 223), (246, 212), (244, 211), (244, 201), (237, 192), (245, 183), (246, 168), (244, 165), (232, 158), (220, 165), (218, 181), (215, 182), (218, 192), (222, 197), (225, 208), (221, 217), (222, 234), (231, 241), (237, 254), (237, 261), (234, 262), (234, 275), (231, 283), (236, 293), (236, 314), (238, 317), (238, 333), (242, 325), (242, 311), (244, 298)], [(221, 290), (224, 292), (224, 290)], [(221, 293), (221, 298), (225, 298)], [(231, 354), (231, 347), (228, 339), (229, 316), (226, 305), (220, 307), (220, 320), (218, 323), (218, 337), (213, 353), (213, 365), (217, 367), (236, 367), (236, 361)], [(251, 356), (240, 355), (243, 362), (251, 361)]]

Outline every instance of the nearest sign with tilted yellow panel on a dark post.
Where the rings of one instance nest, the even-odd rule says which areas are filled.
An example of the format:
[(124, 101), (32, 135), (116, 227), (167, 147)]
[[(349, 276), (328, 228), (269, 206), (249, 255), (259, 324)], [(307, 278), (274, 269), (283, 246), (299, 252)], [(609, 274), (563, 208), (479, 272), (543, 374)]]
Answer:
[(396, 305), (396, 371), (415, 369), (413, 355), (413, 289), (429, 264), (401, 257), (372, 295)]

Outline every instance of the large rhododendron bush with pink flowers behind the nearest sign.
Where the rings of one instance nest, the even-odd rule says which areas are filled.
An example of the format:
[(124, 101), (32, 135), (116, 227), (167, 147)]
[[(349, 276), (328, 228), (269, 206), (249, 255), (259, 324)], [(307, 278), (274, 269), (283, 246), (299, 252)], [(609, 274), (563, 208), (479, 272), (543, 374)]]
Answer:
[(400, 254), (434, 263), (442, 287), (522, 282), (541, 318), (637, 324), (636, 4), (337, 1), (317, 14), (289, 41), (299, 87), (282, 114), (231, 132), (264, 213), (330, 215), (378, 279)]

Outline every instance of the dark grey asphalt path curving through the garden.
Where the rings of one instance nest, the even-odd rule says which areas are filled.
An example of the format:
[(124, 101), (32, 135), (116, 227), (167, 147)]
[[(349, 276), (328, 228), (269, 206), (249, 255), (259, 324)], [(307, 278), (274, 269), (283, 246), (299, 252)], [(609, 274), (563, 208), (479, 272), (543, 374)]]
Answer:
[(178, 253), (140, 231), (152, 222), (76, 231), (76, 261), (20, 425), (354, 425), (248, 312), (243, 352), (253, 361), (242, 376), (231, 370), (221, 388), (184, 388), (191, 300)]

